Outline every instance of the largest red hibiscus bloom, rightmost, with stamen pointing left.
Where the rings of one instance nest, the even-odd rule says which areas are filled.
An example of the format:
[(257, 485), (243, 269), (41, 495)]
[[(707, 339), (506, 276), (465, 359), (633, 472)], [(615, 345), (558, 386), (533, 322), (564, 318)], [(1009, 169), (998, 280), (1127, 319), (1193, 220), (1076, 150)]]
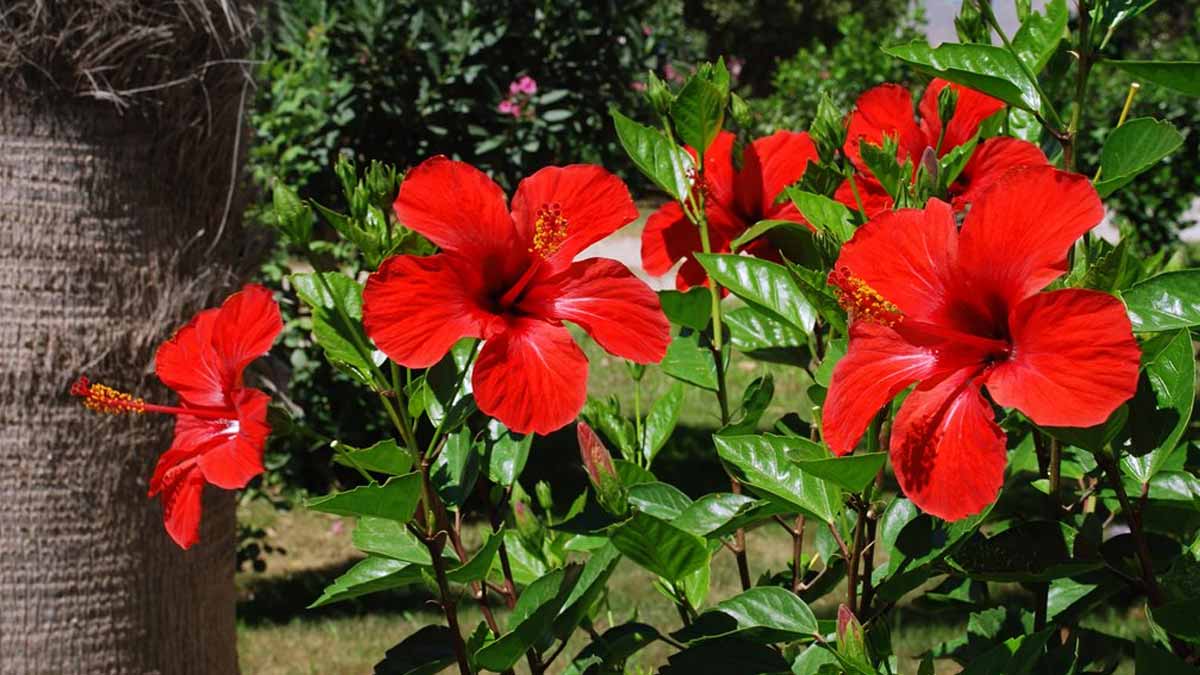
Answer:
[(1042, 292), (1103, 215), (1086, 178), (1030, 167), (982, 196), (961, 232), (938, 199), (859, 228), (830, 274), (852, 317), (823, 414), (834, 453), (916, 383), (892, 428), (896, 479), (923, 510), (955, 520), (1003, 483), (1004, 434), (983, 386), (1049, 426), (1099, 424), (1133, 396), (1139, 350), (1122, 304)]

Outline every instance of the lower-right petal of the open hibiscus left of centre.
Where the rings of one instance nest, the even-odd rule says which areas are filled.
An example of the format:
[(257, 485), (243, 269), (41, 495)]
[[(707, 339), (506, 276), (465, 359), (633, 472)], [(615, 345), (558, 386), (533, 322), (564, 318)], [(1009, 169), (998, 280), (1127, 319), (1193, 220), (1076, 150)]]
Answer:
[(572, 263), (530, 288), (520, 309), (578, 324), (608, 353), (637, 363), (659, 363), (671, 341), (659, 297), (629, 268), (607, 258)]

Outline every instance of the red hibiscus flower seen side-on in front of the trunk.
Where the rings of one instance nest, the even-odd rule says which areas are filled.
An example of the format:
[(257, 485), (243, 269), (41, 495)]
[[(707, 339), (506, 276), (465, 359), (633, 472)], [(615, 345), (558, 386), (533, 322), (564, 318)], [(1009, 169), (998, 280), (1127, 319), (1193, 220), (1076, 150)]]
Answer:
[(148, 404), (80, 377), (71, 393), (96, 412), (175, 416), (175, 438), (150, 478), (162, 495), (162, 521), (180, 548), (199, 539), (204, 484), (236, 490), (263, 472), (270, 396), (241, 374), (283, 329), (271, 292), (248, 285), (220, 309), (204, 310), (158, 347), (155, 374), (179, 394), (179, 407)]

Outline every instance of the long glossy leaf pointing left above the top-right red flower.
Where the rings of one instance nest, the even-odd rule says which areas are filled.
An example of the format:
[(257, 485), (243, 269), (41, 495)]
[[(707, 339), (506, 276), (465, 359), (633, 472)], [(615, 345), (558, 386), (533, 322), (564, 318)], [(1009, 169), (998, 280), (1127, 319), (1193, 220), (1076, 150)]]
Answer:
[(883, 52), (917, 70), (983, 91), (1010, 106), (1030, 112), (1042, 108), (1037, 86), (1003, 47), (955, 43), (930, 47), (924, 40), (914, 40), (908, 44), (883, 47)]

